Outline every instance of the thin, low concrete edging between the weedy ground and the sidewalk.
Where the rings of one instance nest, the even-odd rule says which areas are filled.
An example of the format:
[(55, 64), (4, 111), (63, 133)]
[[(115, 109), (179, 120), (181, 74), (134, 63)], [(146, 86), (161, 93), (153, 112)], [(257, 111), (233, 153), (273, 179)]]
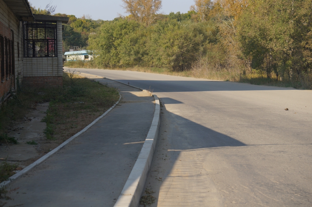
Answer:
[(41, 158), (39, 158), (36, 162), (33, 162), (32, 164), (28, 165), (27, 167), (25, 167), (24, 169), (22, 169), (20, 172), (17, 172), (16, 174), (12, 175), (11, 177), (9, 177), (9, 180), (7, 181), (3, 181), (2, 183), (0, 183), (0, 187), (6, 186), (7, 184), (11, 183), (12, 181), (20, 178), (22, 175), (24, 175), (25, 173), (27, 173), (28, 171), (30, 171), (32, 168), (36, 167), (37, 165), (40, 165), (42, 162), (44, 162), (47, 158), (51, 157), (51, 155), (53, 155), (54, 153), (56, 153), (57, 151), (59, 151), (61, 148), (63, 148), (66, 144), (68, 144), (71, 140), (75, 139), (76, 137), (78, 137), (80, 134), (84, 133), (86, 130), (88, 130), (91, 126), (93, 126), (96, 122), (98, 122), (100, 119), (102, 119), (106, 114), (108, 114), (108, 112), (110, 112), (120, 101), (121, 99), (121, 95), (119, 94), (119, 100), (112, 106), (110, 107), (109, 110), (107, 110), (104, 114), (102, 114), (100, 117), (98, 117), (96, 120), (94, 120), (91, 124), (89, 124), (88, 126), (86, 126), (84, 129), (82, 129), (80, 132), (78, 132), (77, 134), (75, 134), (74, 136), (72, 136), (71, 138), (67, 139), (65, 142), (63, 142), (60, 146), (58, 146), (57, 148), (53, 149), (51, 152), (45, 154), (44, 156), (42, 156)]

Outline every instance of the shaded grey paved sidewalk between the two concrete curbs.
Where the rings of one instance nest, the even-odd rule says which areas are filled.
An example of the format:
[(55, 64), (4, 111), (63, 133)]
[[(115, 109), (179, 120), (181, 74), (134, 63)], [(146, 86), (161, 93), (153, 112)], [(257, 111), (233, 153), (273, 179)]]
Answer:
[(121, 102), (85, 133), (8, 186), (5, 206), (114, 206), (154, 115), (146, 92), (108, 79)]

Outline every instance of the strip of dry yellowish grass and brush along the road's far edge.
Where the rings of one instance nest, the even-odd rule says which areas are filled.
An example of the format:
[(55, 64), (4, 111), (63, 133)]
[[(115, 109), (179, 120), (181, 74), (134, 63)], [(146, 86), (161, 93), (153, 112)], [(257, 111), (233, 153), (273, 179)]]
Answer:
[[(144, 73), (166, 74), (174, 76), (192, 77), (192, 78), (206, 78), (210, 80), (245, 82), (254, 85), (268, 85), (278, 87), (294, 87), (300, 89), (312, 89), (312, 75), (302, 75), (301, 77), (290, 78), (284, 76), (283, 81), (276, 80), (275, 74), (272, 73), (272, 78), (268, 79), (261, 71), (251, 70), (246, 64), (232, 57), (232, 59), (219, 59), (219, 55), (212, 57), (198, 57), (197, 61), (193, 63), (192, 69), (188, 71), (175, 72), (169, 68), (156, 67), (130, 67), (130, 68), (103, 68), (97, 67), (92, 61), (72, 61), (65, 63), (69, 68), (97, 68), (110, 70), (128, 70), (139, 71)], [(244, 72), (245, 71), (245, 72)], [(247, 72), (246, 72), (247, 71)]]

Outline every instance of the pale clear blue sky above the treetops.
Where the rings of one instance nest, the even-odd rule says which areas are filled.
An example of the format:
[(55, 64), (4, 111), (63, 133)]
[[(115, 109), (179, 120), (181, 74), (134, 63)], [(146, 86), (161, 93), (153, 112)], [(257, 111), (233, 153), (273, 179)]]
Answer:
[[(119, 14), (125, 15), (121, 0), (28, 0), (33, 7), (44, 9), (48, 3), (56, 5), (56, 13), (73, 14), (81, 17), (89, 14), (92, 19), (113, 20)], [(193, 0), (163, 0), (160, 12), (188, 12)]]

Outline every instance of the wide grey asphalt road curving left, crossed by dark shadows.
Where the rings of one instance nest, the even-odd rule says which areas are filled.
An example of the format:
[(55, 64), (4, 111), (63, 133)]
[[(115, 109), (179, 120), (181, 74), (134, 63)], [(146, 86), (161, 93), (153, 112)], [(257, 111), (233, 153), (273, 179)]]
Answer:
[(312, 205), (312, 91), (79, 70), (160, 98), (152, 206)]

